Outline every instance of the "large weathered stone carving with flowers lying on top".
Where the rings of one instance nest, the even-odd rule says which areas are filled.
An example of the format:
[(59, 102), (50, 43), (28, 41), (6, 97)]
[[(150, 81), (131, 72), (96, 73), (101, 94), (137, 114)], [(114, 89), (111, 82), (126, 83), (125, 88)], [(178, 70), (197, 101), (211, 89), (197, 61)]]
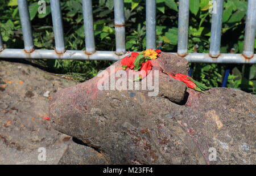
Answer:
[[(188, 70), (187, 61), (166, 53), (153, 65)], [(121, 70), (120, 61), (114, 66)], [(186, 92), (180, 81), (169, 95), (164, 83), (174, 80), (164, 76), (159, 73), (158, 96), (100, 91), (97, 77), (62, 89), (49, 106), (52, 126), (96, 148), (110, 164), (255, 164), (256, 96), (232, 88)], [(209, 159), (212, 148), (216, 161)]]

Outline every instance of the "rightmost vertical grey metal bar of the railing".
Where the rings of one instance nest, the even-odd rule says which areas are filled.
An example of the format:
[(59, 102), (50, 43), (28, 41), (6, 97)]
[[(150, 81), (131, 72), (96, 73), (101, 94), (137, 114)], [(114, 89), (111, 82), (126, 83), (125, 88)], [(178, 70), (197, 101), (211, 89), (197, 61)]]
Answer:
[(243, 56), (251, 58), (254, 55), (256, 31), (256, 1), (249, 0), (245, 24), (245, 40), (243, 43)]

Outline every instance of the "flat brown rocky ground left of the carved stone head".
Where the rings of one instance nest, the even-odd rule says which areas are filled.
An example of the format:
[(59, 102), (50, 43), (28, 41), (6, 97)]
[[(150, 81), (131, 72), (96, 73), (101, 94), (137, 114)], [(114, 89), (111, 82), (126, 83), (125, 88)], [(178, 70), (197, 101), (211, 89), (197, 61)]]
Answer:
[[(0, 61), (0, 164), (105, 162), (93, 148), (76, 144), (42, 118), (48, 116), (53, 93), (71, 85), (75, 82), (31, 65)], [(73, 146), (82, 157), (72, 154), (74, 162), (64, 160)], [(46, 161), (38, 160), (39, 147), (46, 148)]]

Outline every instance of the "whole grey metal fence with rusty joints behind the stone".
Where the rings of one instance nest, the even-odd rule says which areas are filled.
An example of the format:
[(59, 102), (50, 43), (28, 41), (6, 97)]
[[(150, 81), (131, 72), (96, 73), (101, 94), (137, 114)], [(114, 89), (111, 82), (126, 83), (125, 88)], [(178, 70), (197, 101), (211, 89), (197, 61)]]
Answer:
[[(189, 0), (179, 0), (177, 54), (189, 62), (200, 63), (256, 63), (254, 41), (256, 31), (256, 0), (248, 0), (245, 40), (243, 53), (220, 53), (222, 11), (224, 0), (216, 3), (212, 14), (209, 53), (188, 53)], [(92, 0), (82, 0), (85, 27), (85, 51), (65, 50), (60, 0), (51, 0), (55, 50), (35, 50), (32, 38), (30, 15), (27, 0), (18, 0), (20, 21), (22, 24), (24, 49), (4, 49), (0, 34), (0, 58), (31, 59), (85, 59), (118, 60), (127, 53), (125, 49), (125, 15), (123, 0), (114, 0), (115, 51), (96, 51), (93, 31)], [(146, 0), (146, 48), (156, 48), (156, 0)]]

